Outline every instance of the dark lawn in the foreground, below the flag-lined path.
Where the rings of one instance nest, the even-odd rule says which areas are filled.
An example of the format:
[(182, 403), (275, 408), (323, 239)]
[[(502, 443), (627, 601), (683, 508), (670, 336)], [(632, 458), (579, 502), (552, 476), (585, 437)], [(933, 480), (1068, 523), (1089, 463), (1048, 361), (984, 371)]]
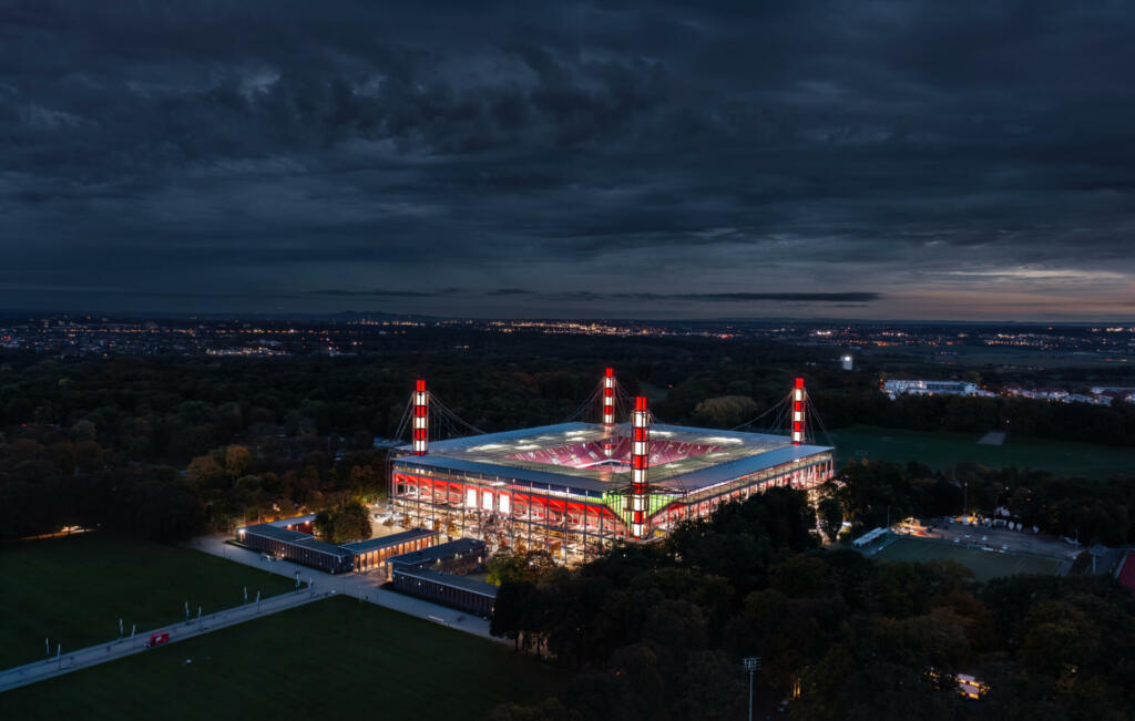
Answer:
[(0, 719), (454, 721), (555, 695), (562, 673), (339, 597), (0, 694)]

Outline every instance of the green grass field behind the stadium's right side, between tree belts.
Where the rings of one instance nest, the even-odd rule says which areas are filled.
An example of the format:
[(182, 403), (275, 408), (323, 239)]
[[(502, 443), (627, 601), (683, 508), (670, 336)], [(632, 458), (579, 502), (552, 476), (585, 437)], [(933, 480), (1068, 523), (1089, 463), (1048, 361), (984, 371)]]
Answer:
[[(1042, 468), (1058, 475), (1105, 478), (1135, 469), (1135, 449), (1092, 443), (1065, 443), (1015, 439), (1003, 446), (978, 446), (981, 433), (920, 433), (900, 429), (855, 425), (832, 431), (836, 463), (855, 458), (907, 463), (917, 460), (932, 468), (972, 461), (991, 468), (1019, 466)], [(823, 441), (823, 436), (819, 439)]]

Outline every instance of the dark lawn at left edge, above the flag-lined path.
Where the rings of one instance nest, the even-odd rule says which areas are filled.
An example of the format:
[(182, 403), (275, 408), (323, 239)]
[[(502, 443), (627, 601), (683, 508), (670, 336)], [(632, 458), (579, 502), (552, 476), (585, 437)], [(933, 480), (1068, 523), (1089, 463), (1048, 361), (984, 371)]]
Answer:
[[(0, 548), (0, 668), (74, 651), (126, 633), (237, 605), (244, 587), (264, 596), (293, 587), (286, 578), (207, 553), (103, 532)], [(0, 715), (0, 718), (3, 718)]]

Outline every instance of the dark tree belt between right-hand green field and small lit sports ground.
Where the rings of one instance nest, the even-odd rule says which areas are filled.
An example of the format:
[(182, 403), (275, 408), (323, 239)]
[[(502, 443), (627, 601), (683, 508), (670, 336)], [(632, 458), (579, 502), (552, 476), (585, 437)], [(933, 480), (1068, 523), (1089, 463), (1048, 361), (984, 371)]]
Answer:
[(1084, 544), (1135, 543), (1135, 472), (1107, 481), (1059, 477), (1045, 470), (958, 464), (947, 472), (922, 464), (861, 460), (844, 466), (830, 493), (856, 533), (907, 517), (957, 516), (967, 510), (1009, 518)]

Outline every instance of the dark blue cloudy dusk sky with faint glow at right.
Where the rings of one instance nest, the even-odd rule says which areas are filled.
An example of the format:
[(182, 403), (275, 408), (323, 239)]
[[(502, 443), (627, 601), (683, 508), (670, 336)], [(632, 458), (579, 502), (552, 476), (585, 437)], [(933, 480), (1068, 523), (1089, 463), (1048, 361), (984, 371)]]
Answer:
[(0, 0), (0, 306), (1135, 317), (1130, 2)]

